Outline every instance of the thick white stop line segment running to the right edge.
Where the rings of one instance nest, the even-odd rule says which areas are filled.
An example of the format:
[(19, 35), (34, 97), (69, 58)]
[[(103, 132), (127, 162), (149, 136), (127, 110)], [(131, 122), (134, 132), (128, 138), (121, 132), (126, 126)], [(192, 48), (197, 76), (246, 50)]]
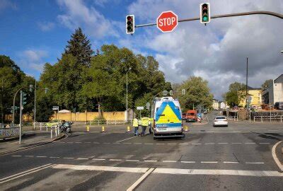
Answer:
[(275, 176), (282, 177), (283, 173), (277, 171), (259, 170), (213, 170), (213, 169), (178, 169), (156, 168), (153, 173), (181, 174), (181, 175), (242, 175), (242, 176)]

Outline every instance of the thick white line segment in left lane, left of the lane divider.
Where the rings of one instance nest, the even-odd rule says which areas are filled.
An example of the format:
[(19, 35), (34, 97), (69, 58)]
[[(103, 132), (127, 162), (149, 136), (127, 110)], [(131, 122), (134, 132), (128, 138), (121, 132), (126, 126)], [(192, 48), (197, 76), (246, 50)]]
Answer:
[(126, 173), (146, 173), (149, 168), (132, 168), (132, 167), (116, 167), (116, 166), (86, 166), (86, 165), (69, 165), (57, 164), (52, 166), (57, 169), (72, 169), (72, 170), (101, 170), (112, 172), (126, 172)]

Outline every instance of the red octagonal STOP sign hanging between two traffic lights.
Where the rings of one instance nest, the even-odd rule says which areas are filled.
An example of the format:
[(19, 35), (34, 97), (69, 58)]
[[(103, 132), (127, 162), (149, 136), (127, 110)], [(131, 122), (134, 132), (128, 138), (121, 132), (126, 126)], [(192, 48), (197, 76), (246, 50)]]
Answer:
[(178, 16), (173, 11), (164, 11), (156, 18), (156, 25), (163, 33), (171, 32), (178, 25)]

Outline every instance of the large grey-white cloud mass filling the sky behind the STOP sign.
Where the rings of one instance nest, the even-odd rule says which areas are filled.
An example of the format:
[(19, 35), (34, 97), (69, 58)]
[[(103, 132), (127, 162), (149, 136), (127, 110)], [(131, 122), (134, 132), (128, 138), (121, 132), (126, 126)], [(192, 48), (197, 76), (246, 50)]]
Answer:
[[(128, 11), (137, 24), (153, 23), (162, 11), (172, 10), (180, 18), (199, 16), (199, 4), (192, 1), (138, 0)], [(280, 0), (214, 0), (212, 15), (244, 11), (283, 13)], [(277, 5), (277, 6), (275, 6)], [(207, 26), (200, 21), (179, 23), (173, 33), (160, 33), (156, 27), (137, 28), (146, 35), (134, 37), (136, 49), (154, 50), (166, 79), (181, 82), (191, 75), (202, 76), (216, 98), (228, 90), (233, 81), (246, 81), (246, 57), (249, 57), (249, 85), (259, 87), (266, 79), (275, 79), (283, 72), (283, 25), (272, 16), (242, 16), (212, 19)], [(126, 42), (124, 42), (127, 44)]]

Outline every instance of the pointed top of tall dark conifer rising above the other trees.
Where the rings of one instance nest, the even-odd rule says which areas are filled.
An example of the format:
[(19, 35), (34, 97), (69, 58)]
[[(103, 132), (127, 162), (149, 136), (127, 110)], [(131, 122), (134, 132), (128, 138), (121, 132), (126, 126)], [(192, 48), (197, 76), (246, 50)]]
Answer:
[(91, 43), (81, 28), (76, 29), (75, 33), (71, 35), (71, 40), (68, 41), (64, 54), (72, 54), (76, 57), (78, 64), (90, 66), (93, 50), (91, 50)]

